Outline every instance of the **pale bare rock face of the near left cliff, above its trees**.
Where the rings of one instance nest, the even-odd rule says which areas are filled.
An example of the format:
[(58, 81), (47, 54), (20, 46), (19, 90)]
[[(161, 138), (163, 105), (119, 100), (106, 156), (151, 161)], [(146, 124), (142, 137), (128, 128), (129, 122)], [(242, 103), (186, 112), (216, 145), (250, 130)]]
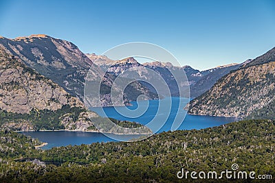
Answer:
[(58, 110), (63, 105), (83, 107), (60, 86), (17, 62), (0, 49), (0, 108), (8, 112), (30, 113), (32, 109)]

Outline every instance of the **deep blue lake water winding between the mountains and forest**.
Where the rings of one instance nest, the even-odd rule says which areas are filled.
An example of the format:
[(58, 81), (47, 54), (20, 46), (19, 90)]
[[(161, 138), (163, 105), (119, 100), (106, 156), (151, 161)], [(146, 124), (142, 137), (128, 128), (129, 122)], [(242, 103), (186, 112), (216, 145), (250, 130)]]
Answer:
[[(91, 108), (102, 117), (111, 117), (118, 120), (135, 121), (147, 125), (153, 132), (167, 132), (169, 130), (192, 130), (213, 127), (237, 121), (235, 118), (209, 117), (186, 114), (184, 106), (188, 99), (172, 97), (162, 100), (133, 101), (132, 106)], [(185, 118), (184, 118), (185, 117)], [(97, 142), (115, 141), (113, 138), (96, 132), (21, 132), (39, 138), (48, 143), (42, 149), (65, 145), (80, 145)], [(137, 138), (137, 135), (115, 135), (125, 141)]]

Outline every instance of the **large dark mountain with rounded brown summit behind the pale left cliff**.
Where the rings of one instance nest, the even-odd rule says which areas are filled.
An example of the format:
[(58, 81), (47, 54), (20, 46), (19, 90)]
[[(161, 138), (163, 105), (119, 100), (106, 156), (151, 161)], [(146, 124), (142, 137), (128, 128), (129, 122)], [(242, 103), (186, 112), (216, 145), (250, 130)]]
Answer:
[[(46, 36), (44, 34), (32, 35), (28, 37), (19, 37), (15, 39), (0, 38), (0, 47), (3, 47), (8, 53), (22, 60), (27, 66), (35, 69), (37, 72), (50, 78), (59, 86), (83, 101), (83, 90), (85, 77), (90, 69), (89, 80), (100, 82), (100, 75), (104, 75), (102, 69), (94, 64), (91, 59), (81, 52), (76, 45), (67, 40), (60, 40)], [(109, 95), (114, 77), (104, 75), (101, 81), (102, 88), (100, 99), (103, 106), (112, 106)], [(131, 84), (129, 90), (126, 90), (124, 102), (128, 103), (135, 100), (134, 95), (146, 95), (148, 99), (155, 98), (146, 90), (141, 90), (140, 84)], [(144, 87), (143, 87), (144, 88)], [(120, 92), (120, 88), (113, 87), (113, 90)], [(128, 93), (127, 93), (128, 91)], [(98, 103), (91, 103), (92, 106), (98, 106)]]

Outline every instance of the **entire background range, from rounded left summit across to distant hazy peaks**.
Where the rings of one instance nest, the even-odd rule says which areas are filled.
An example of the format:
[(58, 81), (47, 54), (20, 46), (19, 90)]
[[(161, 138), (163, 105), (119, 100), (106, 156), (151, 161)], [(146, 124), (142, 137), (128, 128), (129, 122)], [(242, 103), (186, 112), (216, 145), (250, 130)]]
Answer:
[[(21, 60), (41, 75), (50, 78), (67, 93), (83, 101), (85, 77), (89, 71), (91, 80), (100, 82), (101, 103), (91, 102), (91, 106), (113, 106), (121, 103), (112, 103), (111, 88), (121, 93), (119, 87), (113, 86), (115, 77), (127, 69), (144, 67), (159, 73), (170, 88), (172, 96), (179, 93), (177, 83), (168, 69), (186, 73), (188, 81), (180, 85), (190, 86), (190, 97), (197, 97), (206, 92), (217, 80), (230, 71), (239, 68), (241, 64), (218, 66), (214, 69), (199, 71), (190, 66), (173, 66), (169, 62), (149, 62), (140, 64), (134, 58), (111, 60), (106, 56), (84, 54), (76, 45), (67, 40), (52, 38), (45, 34), (36, 34), (19, 38), (0, 38), (0, 47)], [(137, 73), (146, 78), (146, 73)], [(103, 78), (100, 76), (104, 75)], [(148, 75), (147, 75), (148, 76)], [(155, 90), (146, 82), (131, 82), (124, 90), (124, 103), (134, 101), (137, 96), (145, 95), (146, 99), (157, 99)]]

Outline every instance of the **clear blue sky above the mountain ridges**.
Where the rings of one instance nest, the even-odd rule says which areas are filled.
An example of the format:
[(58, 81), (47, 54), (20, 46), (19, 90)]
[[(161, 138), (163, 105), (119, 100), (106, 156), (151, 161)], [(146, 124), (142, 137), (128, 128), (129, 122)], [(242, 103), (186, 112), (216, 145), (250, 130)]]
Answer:
[(275, 1), (0, 0), (0, 35), (30, 34), (97, 54), (125, 42), (151, 42), (203, 70), (275, 47)]

